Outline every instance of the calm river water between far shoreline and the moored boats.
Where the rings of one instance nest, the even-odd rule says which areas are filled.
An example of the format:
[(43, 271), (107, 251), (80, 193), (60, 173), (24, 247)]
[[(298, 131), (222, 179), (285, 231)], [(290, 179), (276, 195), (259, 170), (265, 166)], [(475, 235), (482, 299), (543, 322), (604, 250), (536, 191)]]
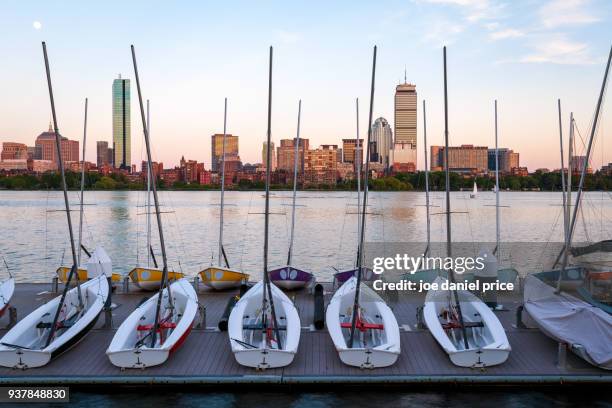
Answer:
[[(78, 193), (70, 193), (77, 209)], [(271, 200), (271, 266), (286, 262), (291, 225), (291, 193), (275, 192)], [(579, 215), (575, 240), (609, 239), (612, 196), (588, 193)], [(432, 193), (432, 213), (444, 211), (443, 193)], [(216, 258), (219, 234), (218, 192), (160, 192), (164, 234), (170, 266), (188, 275)], [(102, 245), (114, 270), (125, 273), (146, 264), (146, 193), (95, 191), (85, 193), (83, 243)], [(426, 238), (425, 194), (372, 192), (366, 240), (423, 242)], [(562, 240), (561, 195), (544, 192), (501, 194), (503, 242), (558, 242)], [(224, 242), (233, 268), (261, 276), (263, 207), (261, 192), (226, 193)], [(299, 192), (293, 260), (330, 279), (333, 269), (353, 265), (357, 245), (357, 196), (354, 192)], [(495, 239), (495, 195), (481, 192), (452, 194), (453, 239), (475, 242)], [(62, 262), (70, 261), (70, 247), (61, 192), (0, 191), (0, 255), (18, 281), (48, 282)], [(72, 211), (75, 236), (78, 211)], [(161, 258), (155, 216), (153, 246)], [(444, 241), (444, 216), (432, 215), (432, 240)], [(538, 265), (532, 265), (537, 268)], [(2, 273), (6, 273), (4, 268)]]

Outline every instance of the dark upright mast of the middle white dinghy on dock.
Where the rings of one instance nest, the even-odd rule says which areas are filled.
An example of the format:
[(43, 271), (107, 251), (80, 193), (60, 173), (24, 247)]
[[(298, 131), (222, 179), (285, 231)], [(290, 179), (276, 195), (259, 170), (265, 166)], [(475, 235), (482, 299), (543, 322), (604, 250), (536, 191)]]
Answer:
[[(266, 316), (268, 306), (270, 307), (270, 314), (272, 315), (272, 321), (274, 324), (274, 334), (276, 336), (276, 342), (278, 344), (278, 348), (282, 349), (280, 330), (278, 327), (278, 320), (276, 319), (276, 311), (274, 310), (274, 298), (272, 297), (272, 286), (270, 284), (270, 276), (268, 275), (268, 230), (270, 224), (270, 166), (272, 162), (270, 160), (271, 156), (271, 139), (272, 139), (272, 46), (270, 46), (270, 62), (269, 62), (269, 72), (268, 72), (268, 131), (267, 131), (267, 144), (266, 144), (266, 207), (264, 214), (264, 291), (262, 296), (262, 313), (264, 317)], [(266, 292), (269, 299), (266, 298)], [(269, 302), (269, 305), (268, 305)], [(264, 319), (264, 327), (263, 329), (267, 329), (267, 319)], [(267, 333), (267, 331), (266, 331)]]

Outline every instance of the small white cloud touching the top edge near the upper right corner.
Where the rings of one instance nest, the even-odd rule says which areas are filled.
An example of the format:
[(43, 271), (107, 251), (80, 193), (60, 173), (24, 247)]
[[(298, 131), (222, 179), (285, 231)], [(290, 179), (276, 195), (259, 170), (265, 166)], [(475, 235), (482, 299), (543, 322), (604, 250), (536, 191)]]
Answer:
[(598, 17), (585, 10), (588, 3), (588, 0), (552, 0), (539, 10), (542, 25), (546, 28), (556, 28), (599, 21)]

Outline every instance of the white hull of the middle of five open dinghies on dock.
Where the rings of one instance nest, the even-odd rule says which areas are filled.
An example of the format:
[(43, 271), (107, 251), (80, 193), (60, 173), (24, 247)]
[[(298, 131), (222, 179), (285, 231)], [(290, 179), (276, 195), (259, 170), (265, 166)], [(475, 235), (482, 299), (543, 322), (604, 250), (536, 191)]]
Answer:
[(270, 347), (262, 330), (249, 330), (246, 325), (261, 323), (264, 283), (259, 282), (240, 298), (232, 309), (228, 321), (228, 335), (236, 361), (246, 367), (260, 370), (285, 367), (293, 361), (300, 342), (300, 317), (293, 302), (274, 284), (270, 283), (274, 308), (280, 330), (281, 346)]

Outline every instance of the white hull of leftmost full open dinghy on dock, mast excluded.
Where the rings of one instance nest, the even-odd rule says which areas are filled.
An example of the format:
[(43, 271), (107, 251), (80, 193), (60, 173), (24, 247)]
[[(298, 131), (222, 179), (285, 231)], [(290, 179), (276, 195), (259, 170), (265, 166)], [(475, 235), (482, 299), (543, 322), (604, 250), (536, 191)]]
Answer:
[[(45, 343), (50, 329), (36, 326), (41, 322), (53, 322), (61, 296), (34, 310), (0, 339), (0, 366), (21, 369), (42, 367), (73, 347), (95, 325), (106, 303), (108, 289), (105, 276), (82, 283), (84, 311), (69, 326), (56, 332), (48, 346)], [(60, 313), (60, 321), (73, 316), (78, 304), (77, 288), (70, 289)]]

